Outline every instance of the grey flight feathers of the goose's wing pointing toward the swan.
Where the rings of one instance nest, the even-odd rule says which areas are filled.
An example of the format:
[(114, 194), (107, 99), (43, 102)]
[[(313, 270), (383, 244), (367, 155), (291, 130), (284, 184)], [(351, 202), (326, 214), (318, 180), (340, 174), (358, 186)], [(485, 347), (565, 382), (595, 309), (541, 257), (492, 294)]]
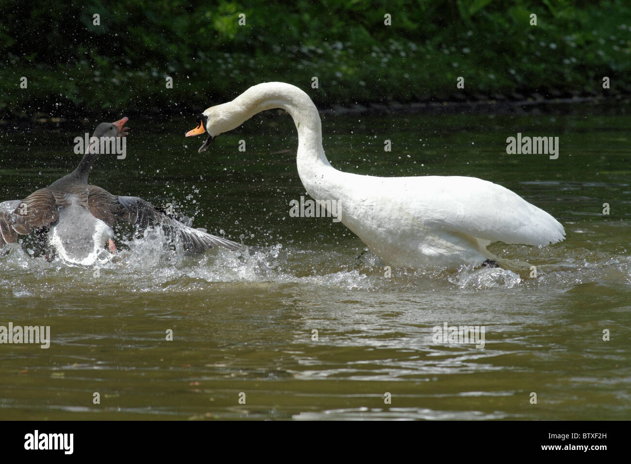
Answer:
[(184, 249), (187, 251), (204, 251), (206, 249), (221, 246), (231, 250), (243, 249), (241, 244), (222, 239), (216, 235), (207, 234), (203, 230), (193, 229), (188, 225), (172, 218), (148, 201), (136, 196), (115, 197), (115, 208), (112, 213), (122, 220), (126, 220), (140, 229), (162, 226), (169, 239), (179, 237)]

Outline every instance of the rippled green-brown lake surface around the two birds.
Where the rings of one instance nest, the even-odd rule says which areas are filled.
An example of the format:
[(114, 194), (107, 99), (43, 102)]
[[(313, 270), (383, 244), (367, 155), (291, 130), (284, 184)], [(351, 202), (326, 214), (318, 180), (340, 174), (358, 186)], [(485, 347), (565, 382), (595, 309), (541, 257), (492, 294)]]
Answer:
[[(0, 125), (0, 201), (73, 170), (74, 137), (96, 125), (77, 124)], [(288, 115), (255, 116), (203, 155), (201, 138), (183, 136), (194, 125), (131, 118), (127, 158), (100, 160), (90, 182), (173, 203), (196, 227), (266, 251), (184, 256), (121, 236), (120, 261), (98, 277), (20, 249), (3, 256), (0, 325), (50, 326), (51, 342), (0, 345), (0, 419), (631, 419), (622, 107), (323, 116), (338, 169), (481, 177), (551, 213), (564, 242), (490, 246), (536, 265), (536, 278), (497, 268), (385, 277), (341, 223), (288, 215), (305, 195)], [(517, 133), (558, 136), (558, 159), (507, 155)], [(435, 344), (444, 323), (485, 326), (485, 347)]]

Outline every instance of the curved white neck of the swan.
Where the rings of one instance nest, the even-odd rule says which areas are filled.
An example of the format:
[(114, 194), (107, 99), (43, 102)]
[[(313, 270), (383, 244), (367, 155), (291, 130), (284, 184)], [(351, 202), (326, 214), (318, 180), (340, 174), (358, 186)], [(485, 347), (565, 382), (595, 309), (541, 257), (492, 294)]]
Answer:
[(232, 121), (238, 122), (237, 126), (264, 110), (282, 108), (288, 112), (298, 131), (297, 163), (301, 179), (303, 172), (331, 166), (322, 148), (320, 115), (309, 95), (298, 87), (281, 82), (262, 83), (225, 105), (229, 105), (227, 113)]

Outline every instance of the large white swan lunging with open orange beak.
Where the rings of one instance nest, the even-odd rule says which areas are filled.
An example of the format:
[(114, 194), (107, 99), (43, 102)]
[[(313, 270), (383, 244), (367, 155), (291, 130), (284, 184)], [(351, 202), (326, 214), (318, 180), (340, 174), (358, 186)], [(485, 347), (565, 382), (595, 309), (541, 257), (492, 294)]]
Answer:
[(219, 134), (273, 108), (286, 110), (298, 130), (298, 175), (307, 193), (338, 202), (341, 222), (391, 266), (494, 265), (491, 242), (546, 245), (565, 236), (545, 211), (475, 177), (375, 177), (335, 169), (324, 155), (314, 103), (290, 84), (252, 86), (232, 102), (206, 109), (186, 136), (208, 133), (201, 153)]

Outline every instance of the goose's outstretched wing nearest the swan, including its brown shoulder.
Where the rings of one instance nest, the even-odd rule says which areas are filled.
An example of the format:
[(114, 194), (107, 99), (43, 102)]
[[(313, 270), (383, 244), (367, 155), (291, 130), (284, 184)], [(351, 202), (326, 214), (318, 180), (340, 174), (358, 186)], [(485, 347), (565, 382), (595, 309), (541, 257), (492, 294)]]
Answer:
[[(108, 198), (107, 195), (109, 194), (105, 191), (98, 195), (91, 193), (88, 198), (88, 208), (93, 215), (110, 225), (115, 220), (124, 220), (136, 225), (139, 229), (160, 226), (169, 240), (180, 239), (186, 251), (204, 251), (215, 246), (231, 250), (244, 248), (237, 242), (208, 234), (204, 230), (193, 229), (137, 196), (110, 195)], [(94, 204), (92, 204), (93, 201)]]

